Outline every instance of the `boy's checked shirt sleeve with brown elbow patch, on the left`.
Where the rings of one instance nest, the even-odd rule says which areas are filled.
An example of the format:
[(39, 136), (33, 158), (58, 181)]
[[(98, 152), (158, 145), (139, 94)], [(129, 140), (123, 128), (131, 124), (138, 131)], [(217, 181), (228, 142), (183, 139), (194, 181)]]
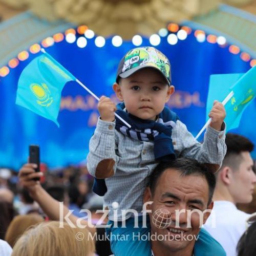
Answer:
[(116, 172), (117, 138), (115, 138), (115, 121), (106, 122), (98, 119), (94, 135), (89, 142), (87, 156), (88, 172), (95, 178), (105, 179)]

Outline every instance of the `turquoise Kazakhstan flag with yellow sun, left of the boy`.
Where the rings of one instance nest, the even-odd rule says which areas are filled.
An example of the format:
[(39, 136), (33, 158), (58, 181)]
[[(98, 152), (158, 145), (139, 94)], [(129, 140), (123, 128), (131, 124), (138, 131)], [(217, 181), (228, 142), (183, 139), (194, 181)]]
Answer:
[(33, 59), (20, 74), (16, 104), (57, 122), (61, 91), (76, 78), (49, 54)]

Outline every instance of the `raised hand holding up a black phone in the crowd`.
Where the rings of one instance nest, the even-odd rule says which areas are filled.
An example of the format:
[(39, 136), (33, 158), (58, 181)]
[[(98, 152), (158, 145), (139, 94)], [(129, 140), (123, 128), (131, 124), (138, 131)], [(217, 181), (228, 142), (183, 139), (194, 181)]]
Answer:
[(18, 177), (19, 183), (29, 190), (29, 194), (33, 198), (36, 190), (41, 186), (39, 181), (33, 180), (33, 178), (40, 178), (44, 174), (40, 172), (35, 172), (36, 164), (26, 163), (20, 168)]

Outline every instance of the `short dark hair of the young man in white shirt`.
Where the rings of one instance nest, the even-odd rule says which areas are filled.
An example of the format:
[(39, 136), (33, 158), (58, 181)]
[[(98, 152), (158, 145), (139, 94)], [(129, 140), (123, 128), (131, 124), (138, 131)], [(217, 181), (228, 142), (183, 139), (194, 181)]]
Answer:
[(241, 153), (252, 152), (253, 143), (242, 135), (227, 133), (226, 134), (227, 154), (222, 162), (222, 167), (229, 166), (236, 170), (239, 168), (243, 157)]

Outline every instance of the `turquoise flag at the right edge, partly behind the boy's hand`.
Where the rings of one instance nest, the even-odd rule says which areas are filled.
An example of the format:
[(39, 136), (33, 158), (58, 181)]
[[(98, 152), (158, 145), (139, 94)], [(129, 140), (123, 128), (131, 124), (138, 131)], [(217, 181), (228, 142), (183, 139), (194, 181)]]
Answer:
[(244, 74), (211, 75), (206, 106), (206, 120), (209, 119), (214, 100), (223, 101), (233, 91), (234, 95), (226, 103), (226, 129), (237, 128), (242, 114), (256, 96), (256, 66)]

